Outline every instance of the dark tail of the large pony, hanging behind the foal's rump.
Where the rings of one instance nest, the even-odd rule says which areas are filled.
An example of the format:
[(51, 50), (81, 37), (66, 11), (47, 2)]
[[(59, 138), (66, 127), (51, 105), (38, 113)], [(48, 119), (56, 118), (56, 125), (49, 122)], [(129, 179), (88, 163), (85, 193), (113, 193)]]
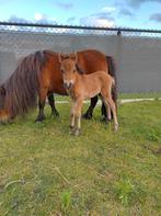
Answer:
[(108, 67), (108, 73), (112, 76), (114, 82), (112, 88), (112, 96), (114, 102), (117, 102), (117, 80), (116, 80), (116, 73), (115, 73), (115, 64), (114, 59), (111, 56), (106, 56), (107, 67)]

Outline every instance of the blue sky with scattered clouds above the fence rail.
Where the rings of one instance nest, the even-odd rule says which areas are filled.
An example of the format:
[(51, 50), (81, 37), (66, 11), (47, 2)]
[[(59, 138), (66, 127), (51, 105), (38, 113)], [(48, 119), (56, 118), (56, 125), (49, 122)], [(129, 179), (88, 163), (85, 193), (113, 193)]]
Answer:
[(161, 29), (161, 0), (0, 0), (0, 21)]

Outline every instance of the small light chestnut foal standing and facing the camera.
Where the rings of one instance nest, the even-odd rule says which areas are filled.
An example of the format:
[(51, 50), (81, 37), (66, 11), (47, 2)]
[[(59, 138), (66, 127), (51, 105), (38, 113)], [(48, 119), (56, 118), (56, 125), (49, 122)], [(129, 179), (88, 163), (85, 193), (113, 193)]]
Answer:
[(100, 70), (91, 75), (80, 73), (77, 70), (77, 54), (64, 58), (59, 54), (60, 70), (62, 72), (64, 86), (70, 95), (72, 105), (70, 114), (70, 127), (73, 135), (78, 136), (81, 128), (81, 110), (83, 100), (91, 99), (101, 94), (101, 99), (106, 106), (108, 120), (111, 120), (111, 110), (114, 117), (114, 130), (118, 129), (116, 115), (116, 105), (112, 99), (112, 87), (114, 79), (105, 71)]

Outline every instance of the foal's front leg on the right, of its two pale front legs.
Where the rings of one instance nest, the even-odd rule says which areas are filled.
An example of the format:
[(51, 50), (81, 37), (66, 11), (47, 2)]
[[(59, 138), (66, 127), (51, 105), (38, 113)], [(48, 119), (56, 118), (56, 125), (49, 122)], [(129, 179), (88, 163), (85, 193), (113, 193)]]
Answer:
[(74, 135), (76, 136), (79, 136), (80, 135), (82, 105), (83, 105), (83, 101), (82, 100), (78, 100), (76, 102), (76, 110), (74, 110), (76, 111), (74, 112), (74, 116), (76, 116)]

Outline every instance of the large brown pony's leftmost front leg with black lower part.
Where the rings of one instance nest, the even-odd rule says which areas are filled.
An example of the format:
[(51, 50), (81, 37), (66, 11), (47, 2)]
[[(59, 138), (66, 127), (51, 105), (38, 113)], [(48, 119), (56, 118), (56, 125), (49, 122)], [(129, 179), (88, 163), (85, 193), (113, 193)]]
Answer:
[(47, 96), (47, 90), (46, 89), (41, 89), (39, 92), (39, 98), (38, 98), (38, 115), (35, 122), (43, 122), (45, 120), (45, 114), (44, 114), (44, 106), (46, 103), (46, 96)]

